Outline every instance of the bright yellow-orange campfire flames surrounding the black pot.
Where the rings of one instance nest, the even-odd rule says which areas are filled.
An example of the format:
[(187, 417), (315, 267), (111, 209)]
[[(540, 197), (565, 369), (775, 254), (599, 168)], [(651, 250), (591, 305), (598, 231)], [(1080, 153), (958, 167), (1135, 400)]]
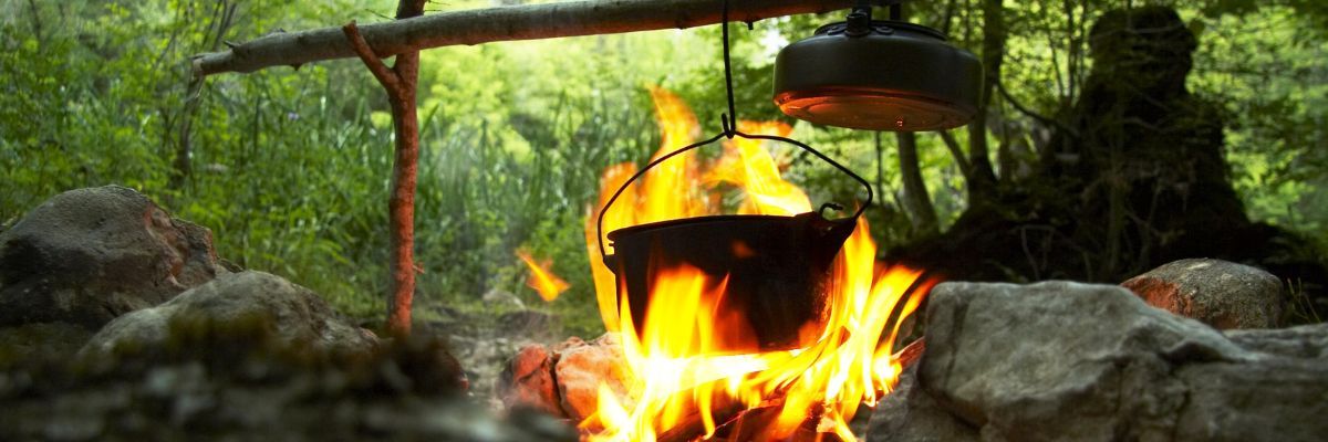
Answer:
[[(664, 131), (655, 158), (693, 142), (696, 117), (685, 104), (663, 89), (652, 89), (651, 96)], [(791, 131), (778, 122), (744, 121), (738, 129), (774, 135)], [(780, 177), (778, 162), (760, 142), (734, 141), (717, 161), (701, 165), (687, 153), (651, 169), (606, 214), (604, 232), (718, 214), (720, 184), (744, 192), (740, 214), (795, 215), (811, 210), (806, 194)], [(701, 166), (709, 167), (703, 171)], [(635, 173), (631, 163), (608, 167), (596, 207), (603, 207)], [(721, 308), (726, 279), (716, 280), (688, 265), (656, 273), (645, 323), (635, 327), (628, 303), (619, 305), (614, 273), (600, 261), (596, 216), (592, 212), (586, 224), (595, 289), (606, 328), (623, 334), (632, 382), (625, 400), (608, 385), (600, 386), (596, 413), (580, 423), (587, 439), (655, 441), (688, 426), (709, 438), (740, 411), (749, 410), (742, 418), (754, 425), (741, 425), (741, 434), (729, 438), (782, 439), (810, 431), (853, 441), (847, 422), (858, 407), (874, 405), (898, 382), (902, 366), (892, 360), (891, 349), (899, 325), (932, 283), (923, 280), (919, 271), (878, 268), (876, 246), (865, 220), (859, 219), (835, 258), (827, 295), (830, 317), (823, 332), (803, 333), (810, 336), (798, 350), (758, 352), (756, 333), (741, 312)], [(722, 352), (710, 349), (720, 336), (726, 342), (750, 340), (752, 352), (716, 356)]]

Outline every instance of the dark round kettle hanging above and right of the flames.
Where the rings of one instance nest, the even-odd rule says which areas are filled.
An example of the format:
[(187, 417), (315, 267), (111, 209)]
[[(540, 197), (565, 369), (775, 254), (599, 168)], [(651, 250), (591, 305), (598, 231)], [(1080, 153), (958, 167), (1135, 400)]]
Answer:
[(870, 9), (780, 50), (774, 104), (814, 123), (891, 131), (944, 130), (977, 113), (983, 66), (940, 32), (871, 20)]

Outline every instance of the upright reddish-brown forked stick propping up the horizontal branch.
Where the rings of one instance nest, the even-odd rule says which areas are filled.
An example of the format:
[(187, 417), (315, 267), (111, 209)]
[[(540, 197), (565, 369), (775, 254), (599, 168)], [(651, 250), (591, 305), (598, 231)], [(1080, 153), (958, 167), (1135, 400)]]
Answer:
[[(425, 0), (401, 0), (397, 7), (397, 20), (424, 15), (424, 3)], [(341, 32), (352, 50), (382, 85), (392, 106), (396, 155), (392, 165), (392, 195), (388, 199), (392, 284), (388, 293), (386, 328), (392, 336), (404, 337), (410, 334), (410, 303), (414, 297), (414, 191), (420, 159), (416, 90), (420, 80), (420, 52), (398, 53), (389, 70), (369, 48), (353, 21), (341, 27)]]

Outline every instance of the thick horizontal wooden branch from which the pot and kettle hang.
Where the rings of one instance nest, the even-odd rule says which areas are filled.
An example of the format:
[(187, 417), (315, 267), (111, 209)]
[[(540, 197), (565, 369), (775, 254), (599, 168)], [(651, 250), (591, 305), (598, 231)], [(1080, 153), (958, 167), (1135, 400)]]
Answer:
[[(798, 13), (846, 9), (855, 0), (728, 0), (729, 20), (753, 23)], [(874, 0), (875, 4), (904, 0)], [(721, 21), (722, 0), (582, 0), (433, 13), (359, 27), (381, 57), (426, 48), (538, 40), (653, 29), (685, 29)], [(340, 27), (272, 33), (230, 50), (193, 57), (194, 76), (254, 72), (271, 66), (349, 58), (356, 53)]]

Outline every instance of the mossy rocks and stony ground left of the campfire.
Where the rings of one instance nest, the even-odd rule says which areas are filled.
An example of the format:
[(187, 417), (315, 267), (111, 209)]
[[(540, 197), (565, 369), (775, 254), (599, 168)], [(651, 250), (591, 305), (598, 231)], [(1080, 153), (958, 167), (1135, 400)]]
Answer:
[(0, 232), (0, 439), (576, 439), (486, 400), (547, 317), (453, 319), (380, 338), (130, 188), (69, 191)]

